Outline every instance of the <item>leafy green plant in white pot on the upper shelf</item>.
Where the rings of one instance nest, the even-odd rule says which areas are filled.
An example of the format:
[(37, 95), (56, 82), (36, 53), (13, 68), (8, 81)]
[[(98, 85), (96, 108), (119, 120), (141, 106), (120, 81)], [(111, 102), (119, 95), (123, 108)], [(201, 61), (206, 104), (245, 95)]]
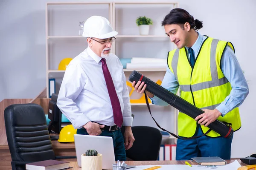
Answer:
[(153, 22), (151, 18), (148, 17), (137, 17), (136, 24), (139, 26), (140, 35), (148, 35), (149, 33), (149, 25), (152, 25)]

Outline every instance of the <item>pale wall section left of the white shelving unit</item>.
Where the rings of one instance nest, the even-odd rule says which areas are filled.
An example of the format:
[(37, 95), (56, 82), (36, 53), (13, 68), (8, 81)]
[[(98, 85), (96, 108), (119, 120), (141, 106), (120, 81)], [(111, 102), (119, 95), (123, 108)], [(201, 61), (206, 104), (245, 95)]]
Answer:
[(44, 1), (0, 1), (5, 98), (34, 98), (46, 86), (44, 8)]

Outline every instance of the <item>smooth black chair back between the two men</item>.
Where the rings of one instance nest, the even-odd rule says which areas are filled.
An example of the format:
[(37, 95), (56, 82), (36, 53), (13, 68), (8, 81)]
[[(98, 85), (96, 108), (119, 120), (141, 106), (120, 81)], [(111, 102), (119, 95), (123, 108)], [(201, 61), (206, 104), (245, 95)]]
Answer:
[[(125, 128), (122, 129), (122, 134)], [(134, 161), (156, 161), (162, 141), (162, 133), (155, 127), (133, 126), (133, 146), (126, 150), (126, 156)]]

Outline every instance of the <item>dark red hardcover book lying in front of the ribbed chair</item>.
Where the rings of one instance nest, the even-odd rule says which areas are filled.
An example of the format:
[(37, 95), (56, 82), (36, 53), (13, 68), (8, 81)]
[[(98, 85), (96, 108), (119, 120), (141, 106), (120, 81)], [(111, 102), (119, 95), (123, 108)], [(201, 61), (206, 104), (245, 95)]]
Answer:
[(69, 162), (46, 160), (26, 164), (26, 170), (61, 170), (69, 168)]

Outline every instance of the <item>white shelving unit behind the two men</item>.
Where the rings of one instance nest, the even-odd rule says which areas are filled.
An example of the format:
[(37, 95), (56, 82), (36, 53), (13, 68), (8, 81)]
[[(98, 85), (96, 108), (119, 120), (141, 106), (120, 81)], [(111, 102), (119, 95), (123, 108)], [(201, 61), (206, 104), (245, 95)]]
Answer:
[[(90, 7), (89, 7), (90, 6)], [(92, 7), (93, 6), (93, 7)], [(146, 57), (166, 58), (168, 51), (175, 48), (169, 37), (163, 32), (160, 21), (177, 3), (167, 2), (88, 2), (88, 3), (47, 3), (46, 4), (46, 86), (49, 98), (49, 78), (56, 78), (59, 84), (65, 71), (58, 70), (61, 59), (76, 57), (87, 47), (84, 37), (79, 36), (79, 22), (92, 15), (102, 15), (110, 21), (114, 30), (119, 34), (112, 45), (111, 52), (120, 58), (132, 58), (145, 55)], [(85, 10), (86, 9), (86, 10)], [(131, 10), (136, 12), (131, 12)], [(65, 15), (66, 17), (63, 17)], [(126, 15), (126, 16), (125, 16)], [(153, 19), (153, 26), (149, 35), (139, 35), (136, 18), (146, 16)], [(64, 20), (65, 18), (65, 20)], [(125, 18), (125, 19), (124, 19)], [(161, 30), (161, 31), (159, 31)], [(80, 44), (76, 46), (74, 44)], [(83, 45), (81, 45), (83, 44)], [(62, 45), (67, 45), (63, 47)], [(158, 46), (157, 46), (158, 45)], [(132, 51), (133, 46), (141, 46), (141, 54)], [(157, 47), (158, 48), (157, 48)], [(152, 48), (153, 47), (153, 48)], [(160, 47), (163, 50), (158, 50)], [(61, 51), (59, 54), (58, 51)], [(137, 50), (138, 52), (138, 50)], [(137, 55), (137, 56), (136, 56)], [(144, 56), (144, 57), (145, 57)], [(125, 76), (129, 77), (134, 69), (124, 69)], [(164, 76), (164, 69), (136, 69), (152, 80)], [(153, 77), (151, 77), (153, 75)], [(157, 79), (156, 79), (157, 80)], [(58, 82), (56, 80), (56, 82)], [(58, 94), (58, 88), (56, 88)], [(150, 104), (152, 106), (152, 104)], [(136, 107), (146, 108), (145, 103), (131, 103), (132, 110)], [(157, 107), (157, 106), (154, 106)], [(172, 108), (171, 106), (168, 106)], [(152, 107), (153, 108), (153, 107)], [(148, 111), (147, 111), (148, 112)], [(177, 134), (177, 114), (174, 110), (174, 133)], [(166, 139), (166, 137), (163, 137)], [(170, 136), (168, 139), (175, 139)]]

